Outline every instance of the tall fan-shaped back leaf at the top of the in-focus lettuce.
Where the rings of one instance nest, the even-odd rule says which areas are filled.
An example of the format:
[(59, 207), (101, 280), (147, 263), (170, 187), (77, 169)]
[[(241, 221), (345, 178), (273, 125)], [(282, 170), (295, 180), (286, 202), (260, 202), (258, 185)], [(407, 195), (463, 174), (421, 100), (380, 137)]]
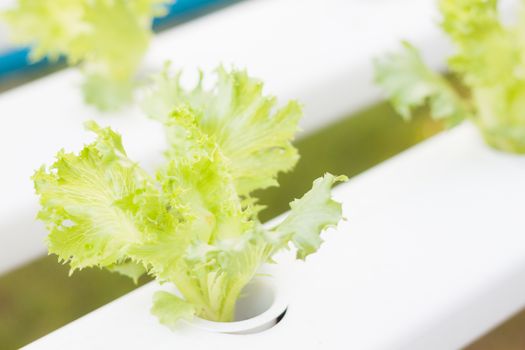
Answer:
[[(227, 72), (219, 67), (216, 78), (209, 90), (204, 88), (202, 74), (194, 88), (185, 89), (180, 73), (171, 76), (167, 67), (155, 78), (143, 109), (151, 118), (166, 123), (175, 108), (191, 108), (203, 134), (213, 139), (228, 159), (240, 195), (276, 186), (277, 174), (289, 171), (299, 159), (291, 144), (302, 115), (299, 104), (291, 101), (276, 109), (276, 99), (263, 95), (262, 82), (245, 71)], [(180, 153), (176, 150), (178, 138), (170, 132), (168, 136), (175, 148), (171, 153)]]

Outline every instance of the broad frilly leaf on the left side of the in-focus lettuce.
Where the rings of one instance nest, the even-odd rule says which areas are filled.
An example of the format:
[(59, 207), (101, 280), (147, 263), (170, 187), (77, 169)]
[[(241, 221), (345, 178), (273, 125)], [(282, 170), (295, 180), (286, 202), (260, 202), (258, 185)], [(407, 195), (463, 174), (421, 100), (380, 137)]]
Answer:
[(98, 139), (78, 154), (59, 152), (50, 169), (33, 176), (42, 206), (38, 217), (50, 234), (49, 252), (71, 271), (111, 266), (146, 236), (145, 219), (119, 204), (154, 193), (151, 179), (127, 157), (120, 135), (95, 123)]

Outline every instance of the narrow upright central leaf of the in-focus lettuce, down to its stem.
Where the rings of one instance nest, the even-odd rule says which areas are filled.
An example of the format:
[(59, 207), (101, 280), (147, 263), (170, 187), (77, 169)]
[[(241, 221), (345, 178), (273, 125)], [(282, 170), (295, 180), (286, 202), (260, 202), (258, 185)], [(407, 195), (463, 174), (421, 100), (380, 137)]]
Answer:
[[(197, 127), (191, 110), (176, 109), (168, 125), (179, 135), (181, 152), (158, 172), (157, 180), (181, 221), (129, 254), (148, 264), (159, 280), (175, 283), (201, 316), (230, 320), (241, 289), (262, 262), (256, 258), (254, 264), (240, 266), (228, 244), (244, 239), (254, 225), (252, 216), (243, 209), (224, 157)], [(236, 254), (253, 258), (246, 247), (235, 248)]]

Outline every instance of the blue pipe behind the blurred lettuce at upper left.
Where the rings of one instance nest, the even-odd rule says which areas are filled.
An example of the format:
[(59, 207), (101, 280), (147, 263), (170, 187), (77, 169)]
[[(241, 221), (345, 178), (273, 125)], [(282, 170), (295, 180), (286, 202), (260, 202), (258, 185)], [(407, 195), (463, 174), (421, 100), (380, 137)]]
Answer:
[[(153, 30), (159, 30), (186, 16), (195, 15), (199, 11), (208, 9), (213, 5), (225, 5), (232, 0), (177, 0), (168, 8), (168, 14), (153, 20)], [(9, 75), (23, 73), (27, 70), (44, 68), (53, 63), (47, 59), (31, 62), (29, 59), (29, 48), (19, 48), (0, 52), (0, 80)]]

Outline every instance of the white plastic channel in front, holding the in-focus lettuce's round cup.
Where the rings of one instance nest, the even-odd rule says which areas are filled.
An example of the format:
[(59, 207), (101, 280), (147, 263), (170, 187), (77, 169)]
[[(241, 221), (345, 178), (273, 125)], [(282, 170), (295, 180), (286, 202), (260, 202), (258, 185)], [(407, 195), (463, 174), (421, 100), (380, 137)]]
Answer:
[(348, 221), (290, 268), (290, 303), (250, 335), (150, 315), (149, 284), (29, 349), (457, 349), (525, 306), (525, 157), (462, 125), (335, 190)]

